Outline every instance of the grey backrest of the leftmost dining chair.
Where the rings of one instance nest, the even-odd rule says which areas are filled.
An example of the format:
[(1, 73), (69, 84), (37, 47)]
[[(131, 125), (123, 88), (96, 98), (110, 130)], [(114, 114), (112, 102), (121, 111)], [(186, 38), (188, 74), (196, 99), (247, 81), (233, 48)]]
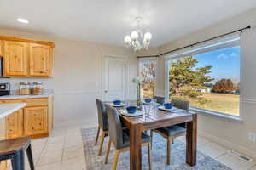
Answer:
[(96, 99), (96, 105), (98, 110), (98, 123), (102, 127), (103, 131), (108, 131), (108, 115), (105, 105), (101, 99)]

